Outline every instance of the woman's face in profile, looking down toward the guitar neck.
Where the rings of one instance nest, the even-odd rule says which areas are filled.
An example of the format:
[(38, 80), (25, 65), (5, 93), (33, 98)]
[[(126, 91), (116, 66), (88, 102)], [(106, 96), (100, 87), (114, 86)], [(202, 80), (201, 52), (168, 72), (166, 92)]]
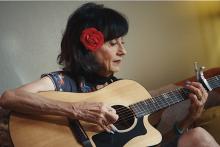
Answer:
[(110, 76), (118, 72), (122, 58), (126, 54), (123, 38), (119, 37), (105, 42), (94, 54), (104, 67), (100, 73), (102, 76)]

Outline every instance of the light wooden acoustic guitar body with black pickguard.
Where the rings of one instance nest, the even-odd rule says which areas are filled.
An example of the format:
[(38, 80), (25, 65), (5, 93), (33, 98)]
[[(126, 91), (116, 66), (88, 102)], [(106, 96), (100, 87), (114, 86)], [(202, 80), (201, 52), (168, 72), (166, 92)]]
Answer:
[[(91, 93), (40, 92), (39, 94), (50, 99), (66, 102), (103, 102), (106, 105), (116, 107), (117, 113), (127, 109), (133, 103), (151, 97), (144, 87), (132, 80), (119, 80)], [(125, 112), (126, 114), (132, 115), (129, 112)], [(124, 121), (128, 121), (129, 125), (116, 126), (119, 132), (115, 134), (97, 133), (92, 130), (94, 124), (80, 122), (94, 147), (144, 147), (161, 142), (162, 136), (150, 125), (148, 115), (138, 119), (132, 117)], [(15, 147), (81, 146), (71, 132), (66, 117), (12, 113), (9, 130)]]

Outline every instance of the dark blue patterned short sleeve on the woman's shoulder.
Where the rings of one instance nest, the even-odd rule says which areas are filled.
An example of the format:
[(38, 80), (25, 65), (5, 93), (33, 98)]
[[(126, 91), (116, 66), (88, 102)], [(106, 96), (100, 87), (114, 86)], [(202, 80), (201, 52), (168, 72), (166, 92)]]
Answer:
[(77, 92), (77, 84), (74, 79), (72, 79), (64, 71), (55, 71), (51, 73), (42, 74), (41, 78), (48, 76), (55, 86), (56, 91), (64, 92)]

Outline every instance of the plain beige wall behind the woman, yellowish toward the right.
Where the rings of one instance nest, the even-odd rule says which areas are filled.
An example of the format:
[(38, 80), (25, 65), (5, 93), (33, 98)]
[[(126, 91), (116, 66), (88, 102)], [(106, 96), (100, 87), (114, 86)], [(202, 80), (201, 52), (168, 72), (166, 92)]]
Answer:
[[(128, 54), (119, 77), (153, 89), (193, 75), (194, 61), (209, 68), (219, 64), (218, 59), (207, 60), (199, 3), (103, 3), (127, 15), (130, 23)], [(70, 13), (81, 4), (0, 2), (0, 93), (59, 69), (62, 32)]]

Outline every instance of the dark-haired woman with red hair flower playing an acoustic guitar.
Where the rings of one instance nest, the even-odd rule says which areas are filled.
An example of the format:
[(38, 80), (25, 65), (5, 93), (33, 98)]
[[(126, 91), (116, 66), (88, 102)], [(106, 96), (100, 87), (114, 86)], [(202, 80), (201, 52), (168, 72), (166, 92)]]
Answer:
[[(84, 120), (112, 133), (115, 131), (112, 124), (118, 119), (113, 108), (101, 102), (58, 102), (35, 93), (49, 90), (91, 92), (116, 81), (114, 73), (120, 70), (126, 54), (123, 36), (127, 32), (128, 22), (119, 12), (94, 3), (82, 5), (69, 17), (63, 35), (58, 56), (63, 70), (43, 74), (40, 80), (5, 91), (0, 105), (23, 113)], [(176, 126), (178, 130), (185, 130), (201, 115), (207, 99), (201, 84), (188, 83), (186, 88), (192, 91), (189, 95), (191, 113)]]

